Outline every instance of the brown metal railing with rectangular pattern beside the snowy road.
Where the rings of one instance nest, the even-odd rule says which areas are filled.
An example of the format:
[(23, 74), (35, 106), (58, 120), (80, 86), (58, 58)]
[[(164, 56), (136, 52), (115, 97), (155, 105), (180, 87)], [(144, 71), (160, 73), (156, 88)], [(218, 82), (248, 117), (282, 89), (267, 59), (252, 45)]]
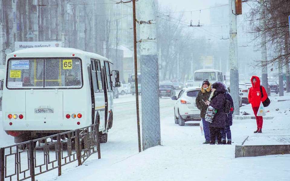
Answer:
[[(25, 180), (78, 160), (78, 165), (98, 152), (98, 124), (0, 148), (0, 181)], [(37, 144), (38, 142), (38, 144)]]

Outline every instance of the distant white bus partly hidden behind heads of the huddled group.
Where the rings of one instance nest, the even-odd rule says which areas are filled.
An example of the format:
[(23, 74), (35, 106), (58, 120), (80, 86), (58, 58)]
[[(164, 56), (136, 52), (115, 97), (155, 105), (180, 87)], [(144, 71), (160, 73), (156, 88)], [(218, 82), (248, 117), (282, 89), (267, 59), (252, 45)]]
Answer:
[(204, 80), (211, 84), (214, 82), (224, 82), (223, 72), (214, 69), (201, 69), (194, 71), (193, 86), (201, 87)]

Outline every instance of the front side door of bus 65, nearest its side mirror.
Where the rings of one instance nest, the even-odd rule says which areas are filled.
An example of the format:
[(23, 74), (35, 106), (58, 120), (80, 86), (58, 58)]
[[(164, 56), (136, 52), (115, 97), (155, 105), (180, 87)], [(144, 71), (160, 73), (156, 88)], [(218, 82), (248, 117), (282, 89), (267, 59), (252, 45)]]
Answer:
[(111, 110), (113, 110), (113, 87), (112, 87), (112, 81), (111, 81), (111, 71), (110, 71), (110, 66), (109, 66), (109, 62), (104, 62), (104, 75), (105, 75), (105, 85), (106, 85), (106, 89), (105, 89), (105, 96), (107, 95), (107, 103), (106, 103), (106, 128), (107, 128), (107, 122), (108, 122), (108, 117), (109, 114), (111, 112)]

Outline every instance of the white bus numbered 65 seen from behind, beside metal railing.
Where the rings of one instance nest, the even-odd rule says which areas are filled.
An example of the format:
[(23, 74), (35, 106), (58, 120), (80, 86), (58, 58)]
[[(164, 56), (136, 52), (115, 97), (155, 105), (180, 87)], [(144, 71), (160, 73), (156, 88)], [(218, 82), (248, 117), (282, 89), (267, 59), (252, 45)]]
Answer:
[(22, 49), (6, 57), (3, 128), (19, 143), (99, 122), (106, 142), (119, 72), (107, 58), (72, 48)]

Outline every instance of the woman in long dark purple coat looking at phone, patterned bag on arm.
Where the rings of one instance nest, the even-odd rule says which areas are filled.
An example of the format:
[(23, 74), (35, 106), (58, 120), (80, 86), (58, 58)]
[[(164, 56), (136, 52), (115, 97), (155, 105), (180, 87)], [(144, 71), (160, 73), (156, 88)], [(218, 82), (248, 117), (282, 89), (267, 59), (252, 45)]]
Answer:
[(226, 127), (226, 117), (224, 113), (225, 93), (227, 92), (226, 86), (221, 82), (215, 82), (211, 86), (210, 101), (207, 101), (208, 106), (212, 106), (216, 113), (214, 119), (210, 124), (211, 144), (215, 143), (215, 138), (218, 139), (218, 144), (221, 142), (221, 129)]

